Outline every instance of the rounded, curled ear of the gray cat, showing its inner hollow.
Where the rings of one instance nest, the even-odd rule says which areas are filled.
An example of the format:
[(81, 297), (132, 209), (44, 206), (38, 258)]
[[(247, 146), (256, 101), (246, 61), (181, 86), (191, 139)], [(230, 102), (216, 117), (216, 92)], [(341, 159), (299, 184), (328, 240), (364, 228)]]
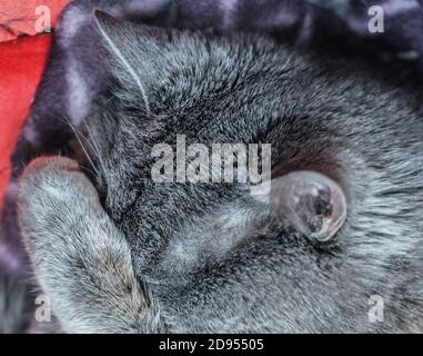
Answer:
[(346, 218), (346, 197), (333, 179), (316, 171), (299, 170), (271, 180), (260, 200), (314, 241), (329, 241)]

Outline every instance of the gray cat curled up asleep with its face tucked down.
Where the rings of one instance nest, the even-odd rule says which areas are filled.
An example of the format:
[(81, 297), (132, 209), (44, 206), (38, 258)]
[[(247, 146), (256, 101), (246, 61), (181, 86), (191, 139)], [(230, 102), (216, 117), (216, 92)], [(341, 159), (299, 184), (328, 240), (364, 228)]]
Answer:
[[(110, 76), (74, 122), (80, 165), (36, 159), (19, 194), (36, 276), (64, 332), (423, 330), (416, 88), (256, 34), (100, 12), (94, 22)], [(177, 135), (270, 144), (271, 191), (154, 182), (151, 151)], [(315, 218), (311, 230), (322, 229), (336, 209), (346, 220), (333, 236), (301, 229)], [(383, 322), (369, 317), (374, 295)]]

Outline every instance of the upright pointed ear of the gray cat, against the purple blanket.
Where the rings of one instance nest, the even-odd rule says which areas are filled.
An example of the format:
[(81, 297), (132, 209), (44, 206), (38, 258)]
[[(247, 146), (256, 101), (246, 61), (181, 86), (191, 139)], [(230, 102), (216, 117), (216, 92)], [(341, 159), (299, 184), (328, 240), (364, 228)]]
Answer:
[(165, 30), (119, 20), (101, 10), (94, 10), (92, 18), (115, 78), (138, 90), (149, 111), (149, 88), (160, 75), (157, 60)]

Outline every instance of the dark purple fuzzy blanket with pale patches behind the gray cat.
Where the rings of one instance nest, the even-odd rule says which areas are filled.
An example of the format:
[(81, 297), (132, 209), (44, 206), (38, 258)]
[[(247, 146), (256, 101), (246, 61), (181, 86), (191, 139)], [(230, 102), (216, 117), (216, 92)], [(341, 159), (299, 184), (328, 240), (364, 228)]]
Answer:
[[(301, 51), (328, 48), (348, 56), (370, 57), (382, 65), (399, 61), (419, 75), (423, 69), (422, 0), (78, 0), (71, 2), (64, 16), (67, 21), (63, 20), (59, 31), (71, 26), (72, 9), (77, 7), (84, 16), (75, 19), (73, 26), (81, 19), (83, 24), (93, 8), (102, 8), (115, 14), (137, 14), (158, 26), (214, 28), (223, 33), (256, 31), (290, 41)], [(52, 48), (56, 58), (62, 51), (59, 44)], [(6, 294), (2, 275), (16, 279), (27, 271), (17, 230), (16, 181), (29, 160), (54, 155), (69, 140), (71, 134), (58, 117), (63, 112), (78, 116), (78, 112), (69, 112), (72, 108), (64, 103), (64, 92), (49, 92), (49, 82), (66, 82), (66, 63), (64, 60), (49, 61), (32, 105), (32, 112), (38, 115), (28, 117), (11, 158), (12, 178), (0, 226), (0, 320), (8, 313), (1, 310), (2, 294)], [(87, 62), (81, 66), (92, 69)], [(87, 86), (95, 90), (94, 83)]]

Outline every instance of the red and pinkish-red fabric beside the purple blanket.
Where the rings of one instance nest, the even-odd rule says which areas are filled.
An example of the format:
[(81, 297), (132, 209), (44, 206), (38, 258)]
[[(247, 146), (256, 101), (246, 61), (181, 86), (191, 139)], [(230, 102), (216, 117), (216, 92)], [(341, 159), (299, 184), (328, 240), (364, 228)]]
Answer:
[[(51, 42), (51, 34), (36, 31), (36, 8), (49, 7), (53, 26), (68, 1), (0, 0), (0, 209), (9, 179), (10, 155), (41, 79)], [(20, 37), (13, 40), (17, 36)]]

